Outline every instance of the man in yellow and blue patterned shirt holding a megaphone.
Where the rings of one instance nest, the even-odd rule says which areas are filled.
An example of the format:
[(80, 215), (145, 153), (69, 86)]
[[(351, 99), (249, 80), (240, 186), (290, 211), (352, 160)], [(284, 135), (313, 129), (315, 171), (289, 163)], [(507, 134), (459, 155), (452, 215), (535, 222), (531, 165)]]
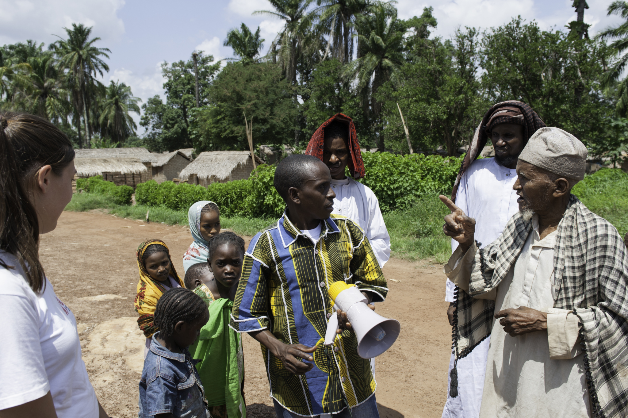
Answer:
[(378, 418), (369, 358), (399, 334), (372, 311), (386, 279), (364, 231), (331, 215), (331, 180), (313, 156), (279, 163), (274, 186), (287, 207), (251, 240), (232, 310), (229, 326), (261, 343), (279, 418)]

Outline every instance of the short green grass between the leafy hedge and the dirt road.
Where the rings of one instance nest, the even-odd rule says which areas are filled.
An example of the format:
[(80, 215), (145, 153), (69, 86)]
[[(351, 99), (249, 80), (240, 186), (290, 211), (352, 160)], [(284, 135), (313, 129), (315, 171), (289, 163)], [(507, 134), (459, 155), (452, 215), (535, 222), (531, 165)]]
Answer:
[[(574, 188), (573, 194), (594, 213), (612, 223), (619, 233), (628, 232), (628, 173), (620, 169), (603, 168), (585, 176)], [(151, 222), (168, 225), (187, 225), (187, 211), (144, 205), (124, 206), (111, 203), (108, 196), (95, 193), (76, 193), (65, 210), (84, 212), (106, 209), (119, 217), (146, 218), (150, 210)], [(418, 200), (413, 206), (384, 214), (384, 222), (391, 236), (393, 257), (409, 260), (430, 259), (431, 262), (447, 262), (451, 255), (451, 240), (443, 235), (443, 217), (449, 213), (438, 196)], [(221, 217), (223, 228), (239, 235), (253, 236), (274, 222), (272, 218)]]

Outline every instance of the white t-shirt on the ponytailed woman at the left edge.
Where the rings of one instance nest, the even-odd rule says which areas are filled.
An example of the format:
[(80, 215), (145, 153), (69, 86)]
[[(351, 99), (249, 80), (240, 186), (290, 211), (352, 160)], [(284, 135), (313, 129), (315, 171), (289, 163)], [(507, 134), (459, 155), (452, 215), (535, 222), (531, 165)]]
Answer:
[(0, 250), (0, 410), (50, 390), (59, 418), (97, 418), (98, 400), (81, 358), (77, 323), (46, 279), (38, 296), (16, 258)]

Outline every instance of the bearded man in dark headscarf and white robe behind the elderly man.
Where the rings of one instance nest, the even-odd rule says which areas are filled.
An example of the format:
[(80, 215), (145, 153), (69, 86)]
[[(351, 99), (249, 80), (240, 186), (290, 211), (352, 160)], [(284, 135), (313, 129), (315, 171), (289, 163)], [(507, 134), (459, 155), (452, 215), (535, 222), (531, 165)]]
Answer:
[[(468, 216), (478, 220), (475, 238), (480, 247), (497, 239), (508, 220), (519, 211), (518, 196), (512, 190), (517, 180), (517, 158), (528, 139), (544, 126), (527, 104), (509, 100), (490, 107), (475, 130), (453, 186), (452, 200)], [(495, 158), (477, 159), (489, 139)], [(452, 239), (452, 252), (457, 247), (458, 242)], [(445, 301), (450, 302), (447, 314), (452, 326), (456, 291), (455, 285), (447, 279)], [(443, 418), (479, 416), (489, 342), (490, 335), (472, 350), (458, 356), (452, 354)]]

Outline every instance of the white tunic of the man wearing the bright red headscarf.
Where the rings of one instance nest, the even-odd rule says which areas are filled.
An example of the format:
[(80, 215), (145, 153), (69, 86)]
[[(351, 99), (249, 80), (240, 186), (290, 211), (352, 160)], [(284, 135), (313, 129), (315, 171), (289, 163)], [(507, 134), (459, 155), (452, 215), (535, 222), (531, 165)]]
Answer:
[(367, 186), (352, 178), (332, 179), (333, 213), (344, 215), (360, 225), (369, 238), (379, 267), (384, 267), (391, 255), (391, 238), (388, 235), (379, 201)]

